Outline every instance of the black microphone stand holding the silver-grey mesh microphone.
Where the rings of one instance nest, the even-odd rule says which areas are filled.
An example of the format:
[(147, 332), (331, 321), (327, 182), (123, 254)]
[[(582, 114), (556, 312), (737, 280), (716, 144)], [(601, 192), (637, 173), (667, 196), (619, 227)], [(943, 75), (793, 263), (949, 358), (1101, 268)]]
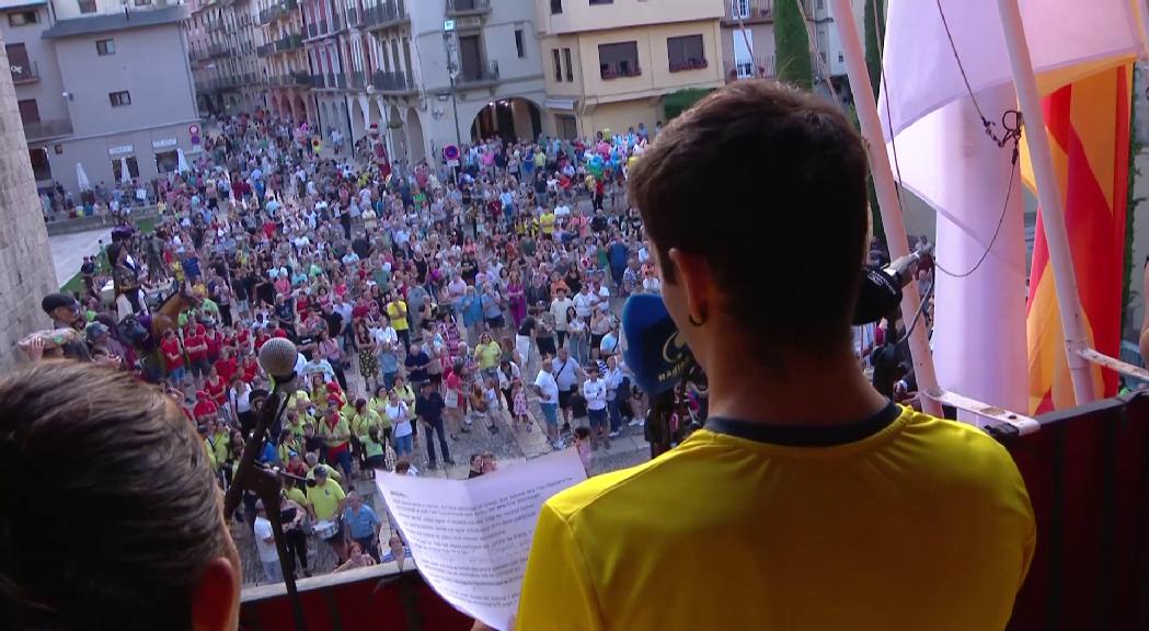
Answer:
[(294, 377), (293, 374), (285, 379), (275, 379), (275, 387), (260, 409), (255, 430), (244, 445), (244, 455), (236, 468), (231, 487), (224, 495), (223, 514), (230, 516), (236, 511), (245, 490), (250, 490), (263, 501), (263, 509), (268, 515), (268, 521), (271, 522), (271, 533), (276, 540), (276, 553), (279, 556), (284, 585), (287, 587), (287, 600), (291, 602), (292, 614), (295, 617), (295, 629), (306, 631), (307, 621), (303, 617), (303, 603), (299, 600), (299, 591), (295, 588), (294, 562), (287, 552), (287, 539), (284, 536), (283, 520), (279, 514), (282, 506), (279, 476), (273, 470), (255, 465), (255, 459), (267, 443), (268, 429), (279, 425), (279, 420), (287, 409), (286, 391), (287, 386), (294, 383)]

